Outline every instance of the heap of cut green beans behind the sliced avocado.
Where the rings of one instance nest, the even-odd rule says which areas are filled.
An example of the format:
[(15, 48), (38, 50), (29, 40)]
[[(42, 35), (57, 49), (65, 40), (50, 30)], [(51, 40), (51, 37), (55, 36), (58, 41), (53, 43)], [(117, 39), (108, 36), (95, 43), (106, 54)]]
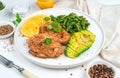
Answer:
[(90, 23), (84, 16), (78, 16), (75, 13), (69, 15), (59, 15), (57, 17), (51, 15), (52, 21), (58, 21), (61, 26), (69, 33), (85, 30), (90, 26)]

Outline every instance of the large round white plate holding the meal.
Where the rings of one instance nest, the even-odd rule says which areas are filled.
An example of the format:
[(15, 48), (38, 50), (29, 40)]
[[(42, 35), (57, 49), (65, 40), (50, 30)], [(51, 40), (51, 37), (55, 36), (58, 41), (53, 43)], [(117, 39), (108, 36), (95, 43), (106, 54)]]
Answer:
[[(92, 31), (96, 35), (96, 39), (95, 39), (95, 42), (93, 43), (93, 45), (89, 48), (89, 50), (87, 50), (86, 52), (81, 54), (76, 59), (68, 58), (65, 55), (62, 55), (61, 57), (54, 58), (54, 59), (50, 59), (50, 58), (42, 59), (42, 58), (34, 57), (31, 54), (29, 54), (29, 52), (28, 52), (29, 48), (26, 45), (26, 38), (22, 37), (22, 35), (20, 33), (20, 29), (21, 29), (21, 26), (24, 23), (24, 21), (34, 15), (37, 15), (37, 14), (47, 14), (47, 15), (57, 16), (57, 15), (62, 15), (62, 14), (68, 15), (71, 12), (74, 12), (77, 15), (80, 15), (80, 16), (82, 15), (82, 16), (86, 17), (87, 20), (91, 24), (89, 26), (89, 30)], [(84, 13), (81, 13), (77, 10), (73, 10), (73, 9), (62, 9), (62, 8), (57, 9), (56, 8), (56, 9), (41, 10), (41, 11), (34, 13), (33, 15), (29, 15), (27, 18), (23, 19), (23, 21), (19, 24), (19, 26), (17, 27), (17, 29), (15, 31), (14, 40), (15, 40), (15, 48), (23, 56), (25, 56), (27, 59), (29, 59), (33, 63), (38, 64), (40, 66), (49, 67), (49, 68), (70, 68), (70, 67), (75, 67), (75, 66), (85, 64), (88, 61), (95, 58), (100, 53), (100, 50), (101, 50), (103, 42), (104, 42), (104, 32), (103, 32), (103, 29), (100, 26), (100, 24), (97, 21), (95, 21), (93, 18), (91, 18), (90, 16), (88, 16)]]

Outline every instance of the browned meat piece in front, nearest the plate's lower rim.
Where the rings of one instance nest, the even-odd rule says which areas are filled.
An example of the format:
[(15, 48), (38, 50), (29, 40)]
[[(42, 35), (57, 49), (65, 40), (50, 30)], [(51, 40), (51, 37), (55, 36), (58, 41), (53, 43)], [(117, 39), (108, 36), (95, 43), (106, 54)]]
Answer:
[(51, 44), (44, 44), (46, 38), (50, 37), (46, 34), (38, 34), (29, 38), (27, 40), (29, 53), (40, 58), (56, 58), (64, 53), (62, 45), (54, 39)]

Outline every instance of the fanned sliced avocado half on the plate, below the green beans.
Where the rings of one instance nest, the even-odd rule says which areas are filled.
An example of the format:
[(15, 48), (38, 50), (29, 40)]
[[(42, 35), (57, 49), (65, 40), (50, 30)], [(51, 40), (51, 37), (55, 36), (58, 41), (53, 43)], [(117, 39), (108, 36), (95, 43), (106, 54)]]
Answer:
[(66, 56), (76, 58), (88, 50), (95, 41), (95, 35), (89, 30), (74, 33), (66, 47)]

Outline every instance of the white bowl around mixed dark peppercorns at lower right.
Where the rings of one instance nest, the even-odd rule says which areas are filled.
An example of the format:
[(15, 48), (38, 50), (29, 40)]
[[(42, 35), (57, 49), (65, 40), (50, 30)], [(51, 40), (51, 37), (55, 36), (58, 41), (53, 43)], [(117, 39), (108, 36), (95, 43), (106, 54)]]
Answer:
[(88, 74), (90, 67), (92, 67), (92, 66), (94, 66), (94, 65), (98, 65), (98, 64), (104, 64), (104, 65), (106, 65), (108, 68), (112, 68), (112, 70), (114, 71), (114, 78), (117, 78), (117, 68), (116, 68), (114, 65), (110, 64), (109, 62), (106, 62), (106, 61), (103, 61), (103, 60), (93, 61), (93, 62), (90, 62), (90, 63), (87, 65), (87, 70), (86, 70), (86, 72), (87, 72), (88, 78), (91, 78), (90, 75)]

